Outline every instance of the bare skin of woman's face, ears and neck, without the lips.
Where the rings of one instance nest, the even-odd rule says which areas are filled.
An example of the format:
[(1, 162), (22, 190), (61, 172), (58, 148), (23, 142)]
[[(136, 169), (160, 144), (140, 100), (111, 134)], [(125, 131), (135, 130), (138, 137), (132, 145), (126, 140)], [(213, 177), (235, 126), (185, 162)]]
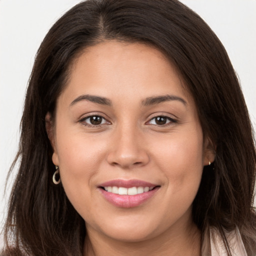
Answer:
[[(167, 94), (170, 100), (145, 104)], [(91, 115), (102, 122), (91, 125)], [(166, 123), (156, 123), (157, 116), (167, 116)], [(54, 122), (49, 113), (46, 121), (52, 161), (86, 223), (84, 255), (200, 255), (191, 205), (214, 154), (192, 97), (160, 51), (114, 40), (86, 48), (71, 66)], [(136, 207), (117, 207), (97, 187), (116, 178), (160, 187)]]

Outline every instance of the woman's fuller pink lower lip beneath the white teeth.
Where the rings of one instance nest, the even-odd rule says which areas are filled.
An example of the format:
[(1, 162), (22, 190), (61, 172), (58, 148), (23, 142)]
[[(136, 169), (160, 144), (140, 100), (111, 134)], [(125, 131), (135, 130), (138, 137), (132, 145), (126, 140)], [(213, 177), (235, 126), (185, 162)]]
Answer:
[(115, 206), (122, 207), (122, 208), (131, 208), (131, 207), (136, 207), (142, 204), (146, 200), (150, 199), (158, 189), (159, 187), (155, 187), (154, 189), (148, 192), (143, 192), (135, 195), (127, 195), (127, 194), (114, 194), (111, 192), (107, 192), (102, 188), (99, 188), (101, 194), (107, 201), (114, 204)]

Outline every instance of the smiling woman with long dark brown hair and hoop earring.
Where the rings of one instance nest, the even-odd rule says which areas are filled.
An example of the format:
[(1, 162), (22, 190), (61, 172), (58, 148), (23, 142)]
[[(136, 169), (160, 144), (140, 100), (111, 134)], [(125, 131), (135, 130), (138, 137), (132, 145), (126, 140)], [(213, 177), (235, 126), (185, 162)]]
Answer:
[(6, 255), (256, 253), (247, 108), (222, 44), (176, 0), (64, 14), (35, 59), (18, 156)]

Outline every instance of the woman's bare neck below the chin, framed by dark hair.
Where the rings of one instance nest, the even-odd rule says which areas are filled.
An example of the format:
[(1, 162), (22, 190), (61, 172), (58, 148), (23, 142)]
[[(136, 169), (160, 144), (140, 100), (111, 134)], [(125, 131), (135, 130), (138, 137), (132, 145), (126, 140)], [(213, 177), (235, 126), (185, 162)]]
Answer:
[(172, 227), (160, 235), (135, 242), (111, 239), (102, 233), (95, 234), (88, 230), (88, 235), (84, 241), (84, 256), (200, 255), (201, 234), (193, 222), (186, 226)]

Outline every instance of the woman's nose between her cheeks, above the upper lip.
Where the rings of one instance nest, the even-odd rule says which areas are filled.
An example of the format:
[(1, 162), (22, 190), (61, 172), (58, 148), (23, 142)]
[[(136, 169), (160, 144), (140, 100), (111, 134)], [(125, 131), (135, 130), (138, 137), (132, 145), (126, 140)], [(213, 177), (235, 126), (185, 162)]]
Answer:
[(118, 128), (110, 139), (107, 161), (111, 165), (131, 169), (149, 161), (143, 134), (136, 127)]

